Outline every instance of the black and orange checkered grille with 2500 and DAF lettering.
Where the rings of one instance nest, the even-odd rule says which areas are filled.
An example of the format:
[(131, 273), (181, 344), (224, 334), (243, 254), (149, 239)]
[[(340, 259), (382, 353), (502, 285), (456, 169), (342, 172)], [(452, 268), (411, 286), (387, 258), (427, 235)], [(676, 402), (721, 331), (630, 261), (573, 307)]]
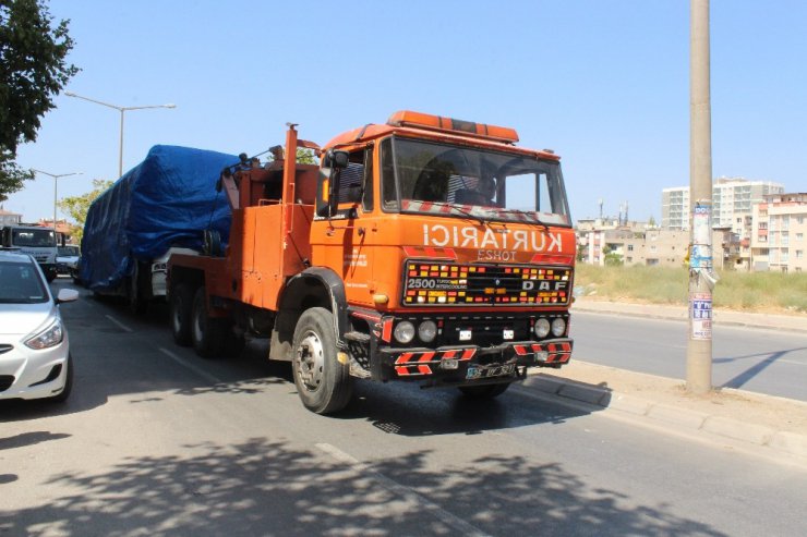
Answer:
[(569, 304), (570, 267), (405, 264), (405, 306), (558, 306)]

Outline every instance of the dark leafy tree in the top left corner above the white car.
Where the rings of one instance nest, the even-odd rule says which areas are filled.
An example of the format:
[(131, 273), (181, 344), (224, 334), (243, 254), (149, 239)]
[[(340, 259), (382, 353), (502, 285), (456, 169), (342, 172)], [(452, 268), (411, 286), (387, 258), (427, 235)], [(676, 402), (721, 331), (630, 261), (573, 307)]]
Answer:
[(17, 146), (36, 141), (53, 97), (79, 72), (64, 61), (69, 21), (51, 22), (44, 0), (0, 0), (0, 202), (33, 179), (15, 162)]

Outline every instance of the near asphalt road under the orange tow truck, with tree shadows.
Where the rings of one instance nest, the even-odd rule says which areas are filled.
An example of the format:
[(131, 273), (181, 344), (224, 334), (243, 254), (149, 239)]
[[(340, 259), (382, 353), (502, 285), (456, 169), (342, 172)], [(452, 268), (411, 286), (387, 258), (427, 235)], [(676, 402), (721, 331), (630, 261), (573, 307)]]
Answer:
[(3, 537), (804, 534), (807, 468), (529, 381), (486, 404), (362, 382), (322, 417), (261, 346), (203, 361), (164, 315), (63, 314), (71, 400), (0, 404)]

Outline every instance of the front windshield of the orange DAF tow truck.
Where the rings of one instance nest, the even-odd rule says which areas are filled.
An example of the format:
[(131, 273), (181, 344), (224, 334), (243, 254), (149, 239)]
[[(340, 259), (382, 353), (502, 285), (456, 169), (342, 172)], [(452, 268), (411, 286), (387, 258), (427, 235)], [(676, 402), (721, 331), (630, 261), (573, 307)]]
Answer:
[(384, 210), (570, 225), (561, 166), (518, 152), (387, 138)]

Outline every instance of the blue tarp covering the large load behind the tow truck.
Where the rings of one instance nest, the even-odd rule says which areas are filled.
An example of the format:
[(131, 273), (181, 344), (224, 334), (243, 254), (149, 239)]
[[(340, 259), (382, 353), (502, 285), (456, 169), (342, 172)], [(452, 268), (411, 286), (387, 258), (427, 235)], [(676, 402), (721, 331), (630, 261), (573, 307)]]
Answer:
[(131, 276), (134, 260), (150, 261), (170, 247), (200, 251), (204, 230), (222, 243), (230, 206), (215, 185), (221, 170), (239, 161), (222, 152), (154, 146), (89, 207), (82, 240), (81, 279), (94, 291), (111, 291)]

